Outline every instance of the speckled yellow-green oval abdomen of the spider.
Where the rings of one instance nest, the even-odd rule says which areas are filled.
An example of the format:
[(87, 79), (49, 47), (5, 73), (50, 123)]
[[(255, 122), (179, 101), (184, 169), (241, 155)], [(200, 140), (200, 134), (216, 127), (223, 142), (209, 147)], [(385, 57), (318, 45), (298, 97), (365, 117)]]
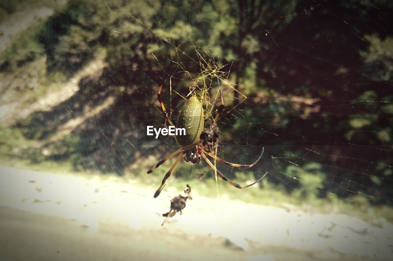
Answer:
[(189, 98), (180, 111), (176, 128), (184, 128), (185, 135), (177, 135), (176, 142), (183, 149), (191, 149), (200, 140), (204, 128), (202, 104), (195, 96)]

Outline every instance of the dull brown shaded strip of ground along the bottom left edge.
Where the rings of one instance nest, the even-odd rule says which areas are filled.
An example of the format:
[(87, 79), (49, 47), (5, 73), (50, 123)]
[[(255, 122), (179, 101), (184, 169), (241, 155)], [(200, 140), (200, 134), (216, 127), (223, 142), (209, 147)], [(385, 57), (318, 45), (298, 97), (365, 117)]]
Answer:
[(0, 207), (0, 231), (0, 257), (7, 261), (198, 261), (209, 260), (212, 255), (224, 261), (244, 257), (211, 238), (195, 237), (191, 241), (185, 240), (184, 233), (169, 235), (165, 230), (108, 224), (100, 224), (97, 232), (91, 232), (74, 221), (7, 207)]

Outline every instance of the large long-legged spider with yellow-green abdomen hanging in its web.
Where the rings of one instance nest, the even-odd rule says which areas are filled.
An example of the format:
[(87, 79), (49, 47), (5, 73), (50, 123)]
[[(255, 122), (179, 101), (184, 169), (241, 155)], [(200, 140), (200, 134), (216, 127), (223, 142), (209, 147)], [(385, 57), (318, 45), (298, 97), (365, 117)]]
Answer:
[[(168, 113), (165, 109), (165, 105), (162, 100), (162, 95), (161, 95), (162, 86), (163, 86), (163, 84), (161, 84), (160, 88), (158, 89), (157, 97), (158, 97), (158, 101), (160, 101), (161, 109), (163, 111), (163, 116), (166, 120), (165, 124), (166, 124), (166, 122), (168, 122), (172, 126), (175, 126), (172, 123), (171, 119), (169, 118)], [(221, 89), (220, 89), (220, 94), (221, 94)], [(221, 105), (219, 106), (219, 109), (217, 110), (217, 114), (216, 114), (215, 118), (213, 119), (213, 123), (209, 126), (208, 129), (203, 130), (204, 111), (202, 108), (202, 104), (200, 103), (198, 98), (196, 98), (196, 96), (191, 96), (191, 98), (189, 98), (189, 100), (187, 100), (187, 102), (184, 104), (182, 110), (180, 111), (179, 118), (177, 120), (177, 128), (185, 128), (185, 135), (175, 136), (176, 143), (180, 146), (180, 148), (178, 150), (176, 150), (175, 152), (169, 154), (167, 157), (163, 158), (162, 160), (158, 161), (158, 163), (154, 167), (152, 167), (151, 169), (149, 169), (147, 171), (147, 174), (150, 174), (156, 168), (158, 168), (160, 165), (162, 165), (165, 161), (176, 156), (180, 152), (179, 156), (174, 161), (171, 169), (169, 169), (169, 171), (165, 174), (160, 187), (154, 193), (154, 198), (157, 198), (160, 195), (163, 187), (165, 186), (165, 181), (167, 180), (167, 178), (169, 178), (169, 176), (171, 176), (171, 173), (172, 173), (174, 167), (177, 165), (177, 163), (180, 161), (180, 159), (182, 158), (183, 155), (184, 155), (185, 161), (187, 161), (187, 162), (191, 161), (194, 164), (200, 163), (201, 159), (204, 158), (206, 160), (206, 162), (208, 163), (208, 165), (211, 167), (211, 169), (213, 169), (215, 172), (217, 172), (217, 174), (220, 176), (220, 178), (224, 179), (225, 181), (227, 181), (228, 183), (230, 183), (231, 185), (233, 185), (237, 188), (250, 187), (250, 186), (254, 185), (255, 183), (258, 183), (259, 181), (261, 181), (261, 179), (263, 179), (264, 176), (266, 176), (267, 172), (261, 178), (259, 178), (257, 181), (253, 182), (252, 184), (246, 185), (246, 186), (241, 186), (241, 185), (231, 181), (230, 179), (226, 178), (219, 170), (217, 170), (215, 168), (213, 163), (211, 163), (211, 161), (206, 156), (206, 155), (208, 155), (211, 158), (213, 158), (213, 159), (215, 159), (225, 165), (228, 165), (231, 167), (237, 167), (237, 168), (251, 168), (262, 157), (264, 149), (262, 149), (261, 155), (254, 163), (252, 163), (250, 165), (242, 165), (242, 164), (227, 162), (224, 159), (221, 159), (212, 153), (218, 147), (219, 128), (217, 127), (216, 122), (217, 122), (217, 119), (219, 118), (223, 108), (224, 108), (224, 99), (222, 98), (222, 94), (221, 94)]]

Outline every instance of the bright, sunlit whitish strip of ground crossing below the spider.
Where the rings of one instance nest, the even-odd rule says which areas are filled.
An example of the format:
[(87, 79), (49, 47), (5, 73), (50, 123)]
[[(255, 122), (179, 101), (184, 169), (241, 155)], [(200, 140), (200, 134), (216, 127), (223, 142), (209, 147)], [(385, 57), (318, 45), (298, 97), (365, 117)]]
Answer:
[(93, 237), (103, 227), (115, 225), (167, 236), (180, 233), (186, 241), (204, 236), (218, 241), (227, 238), (246, 250), (259, 243), (315, 252), (316, 258), (322, 254), (319, 258), (392, 257), (393, 225), (386, 219), (371, 225), (345, 214), (311, 214), (290, 205), (267, 207), (206, 198), (196, 189), (183, 215), (177, 214), (161, 227), (161, 214), (169, 210), (170, 199), (180, 190), (166, 188), (154, 199), (153, 188), (141, 188), (135, 182), (115, 176), (86, 178), (2, 167), (0, 205), (71, 219)]

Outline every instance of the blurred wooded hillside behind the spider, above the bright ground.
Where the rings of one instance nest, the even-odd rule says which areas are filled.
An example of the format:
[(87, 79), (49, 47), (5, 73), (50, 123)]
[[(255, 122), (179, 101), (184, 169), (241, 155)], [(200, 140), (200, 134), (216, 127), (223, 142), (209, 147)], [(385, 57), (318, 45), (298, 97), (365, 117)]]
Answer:
[[(159, 86), (174, 122), (196, 95), (205, 127), (220, 105), (220, 87), (218, 155), (250, 164), (262, 148), (264, 154), (251, 169), (217, 162), (218, 169), (241, 185), (268, 174), (244, 190), (218, 180), (217, 190), (206, 162), (181, 160), (164, 188), (171, 192), (164, 206), (190, 184), (212, 208), (221, 206), (216, 199), (236, 199), (356, 217), (369, 224), (365, 235), (384, 228), (378, 238), (390, 245), (382, 255), (389, 259), (393, 243), (383, 236), (393, 232), (392, 12), (387, 0), (1, 3), (1, 163), (132, 183), (152, 200), (174, 159), (147, 170), (179, 147), (171, 137), (146, 135), (147, 125), (164, 123)], [(242, 227), (230, 214), (211, 215)]]

